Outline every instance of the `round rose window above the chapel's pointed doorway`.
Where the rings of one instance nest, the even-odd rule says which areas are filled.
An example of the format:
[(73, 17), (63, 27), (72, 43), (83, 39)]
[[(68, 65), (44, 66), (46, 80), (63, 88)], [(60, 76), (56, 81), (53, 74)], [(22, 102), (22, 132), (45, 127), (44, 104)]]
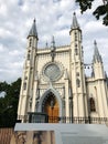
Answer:
[(61, 76), (61, 69), (56, 63), (48, 63), (44, 66), (43, 74), (47, 81), (56, 81)]

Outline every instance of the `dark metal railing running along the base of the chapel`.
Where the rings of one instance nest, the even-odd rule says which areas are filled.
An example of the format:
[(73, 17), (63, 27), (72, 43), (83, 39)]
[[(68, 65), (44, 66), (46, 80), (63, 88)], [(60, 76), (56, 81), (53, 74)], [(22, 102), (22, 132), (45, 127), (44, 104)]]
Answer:
[(108, 117), (66, 117), (66, 116), (48, 116), (47, 121), (41, 121), (35, 117), (29, 122), (29, 115), (20, 115), (18, 117), (24, 123), (74, 123), (74, 124), (105, 124), (108, 123)]

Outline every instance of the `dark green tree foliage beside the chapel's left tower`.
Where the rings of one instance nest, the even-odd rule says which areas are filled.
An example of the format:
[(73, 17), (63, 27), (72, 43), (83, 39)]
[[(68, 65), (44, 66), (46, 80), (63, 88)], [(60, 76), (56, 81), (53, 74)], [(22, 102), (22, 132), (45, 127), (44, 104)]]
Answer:
[(21, 79), (11, 84), (0, 82), (0, 92), (6, 93), (0, 97), (0, 127), (13, 127), (15, 124), (20, 85)]

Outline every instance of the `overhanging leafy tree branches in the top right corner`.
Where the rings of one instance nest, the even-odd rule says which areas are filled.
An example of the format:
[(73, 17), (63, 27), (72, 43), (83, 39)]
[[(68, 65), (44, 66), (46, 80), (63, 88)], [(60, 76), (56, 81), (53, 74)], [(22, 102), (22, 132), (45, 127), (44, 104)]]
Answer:
[[(80, 7), (82, 13), (87, 9), (91, 9), (93, 2), (95, 0), (76, 0)], [(102, 4), (98, 6), (93, 12), (97, 20), (102, 19), (102, 24), (108, 25), (108, 0), (102, 0)]]

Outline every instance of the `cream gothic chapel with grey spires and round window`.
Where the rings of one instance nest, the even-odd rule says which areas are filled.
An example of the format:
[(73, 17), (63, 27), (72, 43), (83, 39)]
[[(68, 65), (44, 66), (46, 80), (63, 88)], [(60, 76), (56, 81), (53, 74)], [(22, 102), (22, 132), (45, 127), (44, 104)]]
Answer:
[(35, 20), (28, 35), (25, 62), (18, 106), (18, 120), (29, 112), (54, 117), (108, 117), (108, 85), (104, 63), (94, 42), (91, 76), (85, 74), (82, 29), (73, 14), (71, 43), (37, 48)]

